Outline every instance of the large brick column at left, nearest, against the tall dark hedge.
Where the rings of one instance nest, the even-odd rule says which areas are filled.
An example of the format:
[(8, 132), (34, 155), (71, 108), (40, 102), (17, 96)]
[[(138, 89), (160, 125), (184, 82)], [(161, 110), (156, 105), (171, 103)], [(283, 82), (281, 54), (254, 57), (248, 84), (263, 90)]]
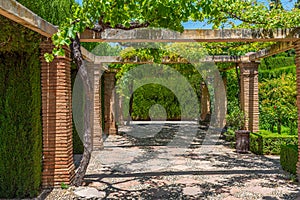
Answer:
[(43, 188), (70, 184), (74, 176), (71, 104), (71, 59), (57, 57), (51, 63), (44, 53), (52, 51), (51, 41), (41, 43), (43, 119)]

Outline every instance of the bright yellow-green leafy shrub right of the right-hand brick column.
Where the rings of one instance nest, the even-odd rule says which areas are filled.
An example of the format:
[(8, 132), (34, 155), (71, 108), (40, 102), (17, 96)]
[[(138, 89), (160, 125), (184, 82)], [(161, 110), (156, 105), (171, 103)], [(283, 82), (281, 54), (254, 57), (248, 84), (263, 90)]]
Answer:
[[(296, 75), (283, 74), (279, 78), (268, 79), (259, 83), (259, 125), (261, 129), (277, 133), (297, 129), (297, 88)], [(283, 126), (289, 130), (283, 130)]]

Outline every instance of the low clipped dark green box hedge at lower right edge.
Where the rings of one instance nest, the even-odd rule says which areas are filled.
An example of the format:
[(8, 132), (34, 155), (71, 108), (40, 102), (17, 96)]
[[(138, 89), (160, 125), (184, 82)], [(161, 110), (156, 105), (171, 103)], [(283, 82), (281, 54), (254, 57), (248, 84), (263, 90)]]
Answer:
[(298, 162), (298, 145), (282, 145), (280, 151), (280, 164), (282, 169), (296, 174)]

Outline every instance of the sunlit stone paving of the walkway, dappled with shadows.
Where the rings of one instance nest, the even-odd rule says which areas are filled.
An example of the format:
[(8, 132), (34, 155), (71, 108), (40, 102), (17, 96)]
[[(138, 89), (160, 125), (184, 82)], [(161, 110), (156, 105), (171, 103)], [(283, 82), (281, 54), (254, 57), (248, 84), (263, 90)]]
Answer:
[(120, 127), (93, 152), (85, 186), (48, 199), (300, 199), (278, 156), (237, 154), (224, 140), (203, 149), (206, 134), (195, 124)]

